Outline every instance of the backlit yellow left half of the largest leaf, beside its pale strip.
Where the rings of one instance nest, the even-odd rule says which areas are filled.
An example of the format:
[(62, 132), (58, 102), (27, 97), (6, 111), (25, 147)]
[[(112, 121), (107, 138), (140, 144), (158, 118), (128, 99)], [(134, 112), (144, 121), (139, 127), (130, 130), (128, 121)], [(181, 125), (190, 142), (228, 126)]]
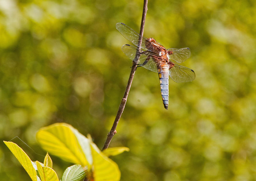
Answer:
[(36, 139), (46, 151), (63, 160), (82, 166), (88, 165), (83, 149), (81, 148), (72, 126), (65, 123), (56, 123), (41, 128), (36, 133)]

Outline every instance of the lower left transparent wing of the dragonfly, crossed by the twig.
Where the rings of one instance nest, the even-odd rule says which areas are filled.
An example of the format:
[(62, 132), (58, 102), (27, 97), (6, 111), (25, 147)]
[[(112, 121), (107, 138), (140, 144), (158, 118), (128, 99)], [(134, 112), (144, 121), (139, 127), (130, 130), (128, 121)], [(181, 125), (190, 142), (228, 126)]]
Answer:
[[(137, 48), (126, 44), (126, 45), (123, 45), (122, 51), (130, 59), (134, 60), (136, 52), (137, 52)], [(151, 70), (153, 72), (158, 73), (157, 67), (156, 67), (156, 62), (154, 61), (154, 58), (153, 58), (153, 55), (156, 55), (156, 54), (154, 54), (153, 52), (145, 52), (145, 51), (142, 51), (142, 50), (140, 50), (140, 54), (141, 55), (140, 55), (140, 59), (139, 59), (138, 64), (143, 64), (146, 61), (146, 59), (149, 57), (150, 59), (148, 60), (148, 63), (146, 63), (142, 67), (144, 67), (145, 69), (148, 69), (148, 70)]]

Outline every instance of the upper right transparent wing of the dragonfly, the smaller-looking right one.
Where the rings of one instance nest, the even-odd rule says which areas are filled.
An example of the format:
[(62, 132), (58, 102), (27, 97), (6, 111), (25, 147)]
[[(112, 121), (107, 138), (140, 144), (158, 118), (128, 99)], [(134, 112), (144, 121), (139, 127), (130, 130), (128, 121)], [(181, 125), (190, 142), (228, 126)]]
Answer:
[(169, 48), (168, 50), (169, 58), (174, 60), (177, 63), (182, 63), (186, 61), (190, 57), (190, 49), (189, 48)]

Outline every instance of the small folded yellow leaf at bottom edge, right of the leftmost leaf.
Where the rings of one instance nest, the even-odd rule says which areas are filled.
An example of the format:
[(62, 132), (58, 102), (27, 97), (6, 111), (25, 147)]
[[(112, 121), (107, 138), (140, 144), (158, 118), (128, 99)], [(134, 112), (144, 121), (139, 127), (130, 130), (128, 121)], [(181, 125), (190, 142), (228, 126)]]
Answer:
[(59, 178), (54, 170), (50, 167), (43, 167), (38, 161), (36, 161), (37, 170), (41, 181), (59, 181)]

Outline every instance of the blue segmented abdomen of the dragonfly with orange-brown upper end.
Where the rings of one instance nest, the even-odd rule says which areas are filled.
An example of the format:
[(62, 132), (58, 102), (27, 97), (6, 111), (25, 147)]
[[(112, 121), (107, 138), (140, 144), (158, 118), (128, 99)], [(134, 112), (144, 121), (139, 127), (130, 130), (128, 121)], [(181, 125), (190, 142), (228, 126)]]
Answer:
[(163, 99), (164, 108), (168, 109), (169, 98), (169, 65), (167, 63), (161, 63), (158, 68), (158, 76), (160, 80), (160, 89)]

